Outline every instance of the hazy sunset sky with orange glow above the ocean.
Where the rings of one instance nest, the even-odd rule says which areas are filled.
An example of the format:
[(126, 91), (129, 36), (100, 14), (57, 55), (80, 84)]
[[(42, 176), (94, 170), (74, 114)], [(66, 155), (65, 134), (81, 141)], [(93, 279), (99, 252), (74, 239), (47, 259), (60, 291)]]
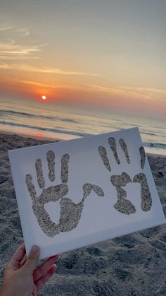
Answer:
[(166, 118), (165, 15), (165, 0), (1, 1), (0, 99)]

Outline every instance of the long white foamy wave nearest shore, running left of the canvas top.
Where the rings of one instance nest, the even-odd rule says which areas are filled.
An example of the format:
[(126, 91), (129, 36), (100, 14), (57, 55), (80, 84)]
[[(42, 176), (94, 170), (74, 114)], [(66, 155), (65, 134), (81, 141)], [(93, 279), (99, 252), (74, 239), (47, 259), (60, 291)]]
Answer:
[(45, 127), (41, 127), (41, 126), (31, 126), (29, 124), (17, 124), (15, 122), (1, 122), (0, 121), (0, 124), (8, 125), (8, 126), (18, 126), (18, 127), (20, 126), (20, 127), (23, 127), (23, 128), (25, 127), (28, 129), (36, 129), (38, 131), (51, 131), (51, 132), (58, 133), (58, 134), (70, 134), (73, 136), (91, 136), (91, 134), (82, 133), (79, 131), (67, 131), (64, 129), (45, 128)]

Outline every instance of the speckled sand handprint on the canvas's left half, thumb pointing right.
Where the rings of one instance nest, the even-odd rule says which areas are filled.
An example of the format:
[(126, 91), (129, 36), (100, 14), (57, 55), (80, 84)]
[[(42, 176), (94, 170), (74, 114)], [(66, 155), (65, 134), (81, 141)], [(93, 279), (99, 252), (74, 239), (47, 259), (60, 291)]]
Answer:
[[(49, 167), (49, 179), (54, 182), (56, 179), (55, 174), (55, 155), (53, 151), (48, 151), (46, 153), (46, 159)], [(61, 174), (60, 179), (62, 184), (53, 185), (51, 187), (45, 188), (44, 174), (42, 170), (41, 159), (38, 158), (35, 162), (36, 172), (37, 172), (37, 182), (39, 188), (42, 190), (41, 194), (37, 196), (34, 184), (32, 183), (32, 175), (27, 174), (25, 182), (27, 184), (27, 189), (30, 193), (32, 199), (32, 209), (37, 221), (49, 237), (57, 235), (59, 232), (66, 232), (77, 227), (79, 220), (82, 215), (82, 210), (84, 208), (84, 200), (89, 196), (92, 190), (98, 196), (104, 196), (103, 190), (93, 184), (86, 183), (82, 187), (83, 197), (79, 203), (74, 203), (71, 199), (64, 197), (68, 194), (68, 162), (69, 155), (66, 153), (61, 158)], [(44, 205), (50, 201), (56, 202), (60, 199), (60, 219), (58, 224), (53, 223), (47, 213)]]

